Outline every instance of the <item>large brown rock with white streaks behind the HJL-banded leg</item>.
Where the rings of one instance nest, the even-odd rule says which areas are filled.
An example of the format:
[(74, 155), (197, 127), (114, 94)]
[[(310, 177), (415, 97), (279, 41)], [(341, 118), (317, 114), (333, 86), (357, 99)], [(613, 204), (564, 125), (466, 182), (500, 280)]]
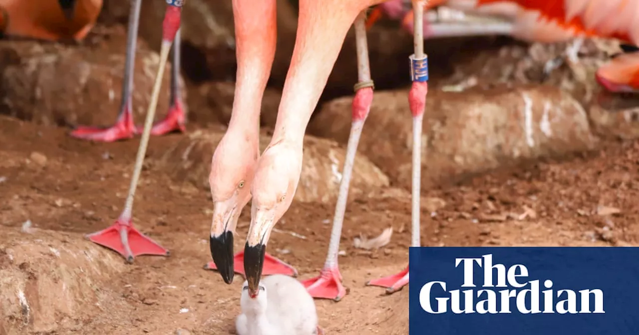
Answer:
[[(309, 133), (348, 142), (352, 98), (327, 103)], [(594, 148), (587, 115), (554, 87), (431, 91), (422, 137), (422, 187), (491, 168)], [(408, 91), (377, 92), (358, 152), (410, 188), (412, 117)], [(397, 184), (396, 184), (397, 182)]]

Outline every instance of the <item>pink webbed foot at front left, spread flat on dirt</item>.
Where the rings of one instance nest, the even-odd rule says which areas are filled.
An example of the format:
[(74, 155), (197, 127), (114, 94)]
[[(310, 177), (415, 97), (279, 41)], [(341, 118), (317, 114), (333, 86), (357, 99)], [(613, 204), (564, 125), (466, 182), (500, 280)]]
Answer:
[(130, 221), (118, 219), (111, 227), (86, 235), (91, 242), (122, 255), (127, 262), (139, 255), (169, 256), (169, 251), (135, 229)]

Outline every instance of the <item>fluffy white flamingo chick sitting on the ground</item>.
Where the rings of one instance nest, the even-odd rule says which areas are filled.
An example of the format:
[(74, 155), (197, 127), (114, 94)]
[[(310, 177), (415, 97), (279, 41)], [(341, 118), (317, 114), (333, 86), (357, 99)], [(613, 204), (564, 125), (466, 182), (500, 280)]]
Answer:
[(238, 335), (318, 335), (315, 302), (297, 279), (273, 274), (259, 283), (258, 295), (242, 285), (242, 313), (235, 320)]

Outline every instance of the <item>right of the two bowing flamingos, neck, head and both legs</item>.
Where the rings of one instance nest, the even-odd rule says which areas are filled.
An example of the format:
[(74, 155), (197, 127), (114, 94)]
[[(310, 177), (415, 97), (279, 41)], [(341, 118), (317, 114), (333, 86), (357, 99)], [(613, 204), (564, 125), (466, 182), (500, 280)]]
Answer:
[[(234, 2), (237, 6), (240, 0)], [(274, 0), (265, 2), (275, 6)], [(380, 2), (380, 0), (301, 0), (299, 3), (296, 43), (282, 92), (275, 131), (270, 144), (258, 159), (251, 186), (251, 223), (244, 248), (243, 265), (252, 295), (258, 294), (259, 278), (263, 273), (270, 233), (277, 221), (288, 210), (297, 188), (302, 168), (302, 145), (306, 126), (318, 103), (319, 95), (326, 85), (346, 33), (357, 17), (355, 31), (359, 82), (355, 86), (357, 92), (353, 100), (353, 124), (346, 149), (343, 179), (335, 209), (327, 261), (317, 278), (304, 281), (305, 287), (313, 297), (339, 300), (346, 294), (337, 265), (337, 251), (357, 144), (373, 101), (364, 10)], [(420, 138), (427, 93), (426, 56), (423, 54), (423, 38), (419, 33), (421, 13), (425, 4), (426, 0), (413, 1), (413, 5), (418, 9), (415, 17), (416, 20), (419, 19), (415, 33), (415, 54), (411, 58), (413, 86), (409, 94), (414, 124), (413, 138), (417, 138), (413, 145), (413, 245), (419, 245)], [(339, 8), (339, 10), (327, 11), (325, 8)], [(268, 17), (268, 20), (271, 20), (269, 26), (275, 25), (275, 17)], [(236, 21), (236, 24), (243, 24), (243, 22)], [(238, 35), (237, 38), (237, 45), (250, 42), (249, 36)], [(261, 50), (256, 50), (256, 54), (260, 52)], [(217, 156), (217, 151), (221, 153), (222, 149), (218, 148), (214, 156)], [(246, 168), (248, 165), (243, 166)], [(217, 169), (214, 157), (212, 172)], [(245, 181), (245, 179), (242, 180)], [(244, 186), (245, 184), (242, 184), (242, 187), (237, 184), (236, 187)], [(227, 190), (230, 193), (231, 189)], [(240, 194), (237, 189), (235, 192), (237, 195)], [(229, 230), (230, 227), (226, 228), (226, 232), (222, 230), (219, 233), (219, 230), (213, 227), (212, 231), (213, 235), (220, 236), (228, 235)], [(222, 241), (228, 241), (228, 239)], [(212, 257), (218, 265), (227, 266), (233, 257), (232, 248), (229, 242), (226, 243), (226, 247), (213, 247), (212, 244)], [(408, 272), (404, 271), (399, 276), (392, 276), (387, 281), (374, 284), (403, 287), (406, 283), (408, 283)]]

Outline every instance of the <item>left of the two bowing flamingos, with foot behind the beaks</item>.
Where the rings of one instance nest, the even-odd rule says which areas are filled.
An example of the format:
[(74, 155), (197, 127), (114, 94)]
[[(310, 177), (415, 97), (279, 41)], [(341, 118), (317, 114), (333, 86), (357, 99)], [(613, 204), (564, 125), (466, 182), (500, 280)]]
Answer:
[[(231, 121), (211, 161), (213, 222), (209, 246), (213, 262), (204, 266), (217, 269), (227, 284), (233, 282), (235, 272), (244, 273), (244, 252), (231, 256), (233, 234), (250, 200), (259, 157), (259, 114), (275, 57), (276, 13), (272, 1), (233, 1), (238, 70)], [(297, 276), (295, 268), (268, 254), (264, 272)]]

